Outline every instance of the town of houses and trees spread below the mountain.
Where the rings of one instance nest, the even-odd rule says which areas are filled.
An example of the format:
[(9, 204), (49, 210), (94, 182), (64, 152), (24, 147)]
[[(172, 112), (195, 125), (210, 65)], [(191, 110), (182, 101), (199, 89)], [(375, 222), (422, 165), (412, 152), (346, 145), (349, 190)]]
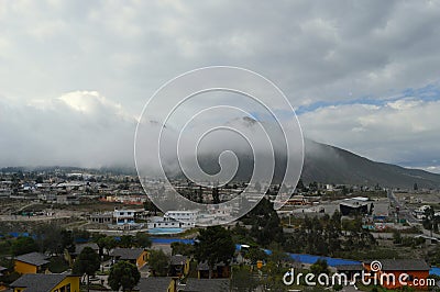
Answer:
[[(233, 210), (162, 212), (139, 178), (123, 171), (6, 168), (0, 175), (2, 291), (418, 291), (437, 289), (440, 279), (440, 193), (417, 183), (300, 180), (278, 211), (273, 201), (282, 186), (274, 184), (239, 221), (200, 227), (200, 218)], [(246, 187), (174, 183), (182, 195), (212, 205)], [(293, 268), (353, 280), (375, 261), (380, 272), (408, 273), (408, 285), (283, 282)]]

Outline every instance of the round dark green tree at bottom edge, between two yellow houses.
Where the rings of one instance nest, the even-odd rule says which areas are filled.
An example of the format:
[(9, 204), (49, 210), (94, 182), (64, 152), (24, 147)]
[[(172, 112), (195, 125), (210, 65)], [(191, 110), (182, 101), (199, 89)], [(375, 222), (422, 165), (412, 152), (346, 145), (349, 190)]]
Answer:
[(113, 291), (131, 291), (141, 280), (136, 266), (129, 261), (118, 261), (110, 269), (109, 285)]

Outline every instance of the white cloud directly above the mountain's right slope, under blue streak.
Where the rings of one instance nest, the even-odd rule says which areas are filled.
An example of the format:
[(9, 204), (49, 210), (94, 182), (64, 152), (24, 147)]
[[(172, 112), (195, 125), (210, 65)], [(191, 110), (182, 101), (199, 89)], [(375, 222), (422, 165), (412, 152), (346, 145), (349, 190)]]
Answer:
[[(440, 101), (321, 108), (299, 116), (306, 136), (378, 161), (426, 168), (440, 151)], [(437, 171), (436, 166), (430, 168)]]

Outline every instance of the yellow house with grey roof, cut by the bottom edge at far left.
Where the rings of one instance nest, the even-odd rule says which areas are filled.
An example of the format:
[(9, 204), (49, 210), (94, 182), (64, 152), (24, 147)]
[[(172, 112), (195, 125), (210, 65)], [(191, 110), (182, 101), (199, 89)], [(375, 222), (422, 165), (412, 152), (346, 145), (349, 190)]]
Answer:
[(13, 292), (79, 292), (79, 276), (28, 273), (12, 282)]

